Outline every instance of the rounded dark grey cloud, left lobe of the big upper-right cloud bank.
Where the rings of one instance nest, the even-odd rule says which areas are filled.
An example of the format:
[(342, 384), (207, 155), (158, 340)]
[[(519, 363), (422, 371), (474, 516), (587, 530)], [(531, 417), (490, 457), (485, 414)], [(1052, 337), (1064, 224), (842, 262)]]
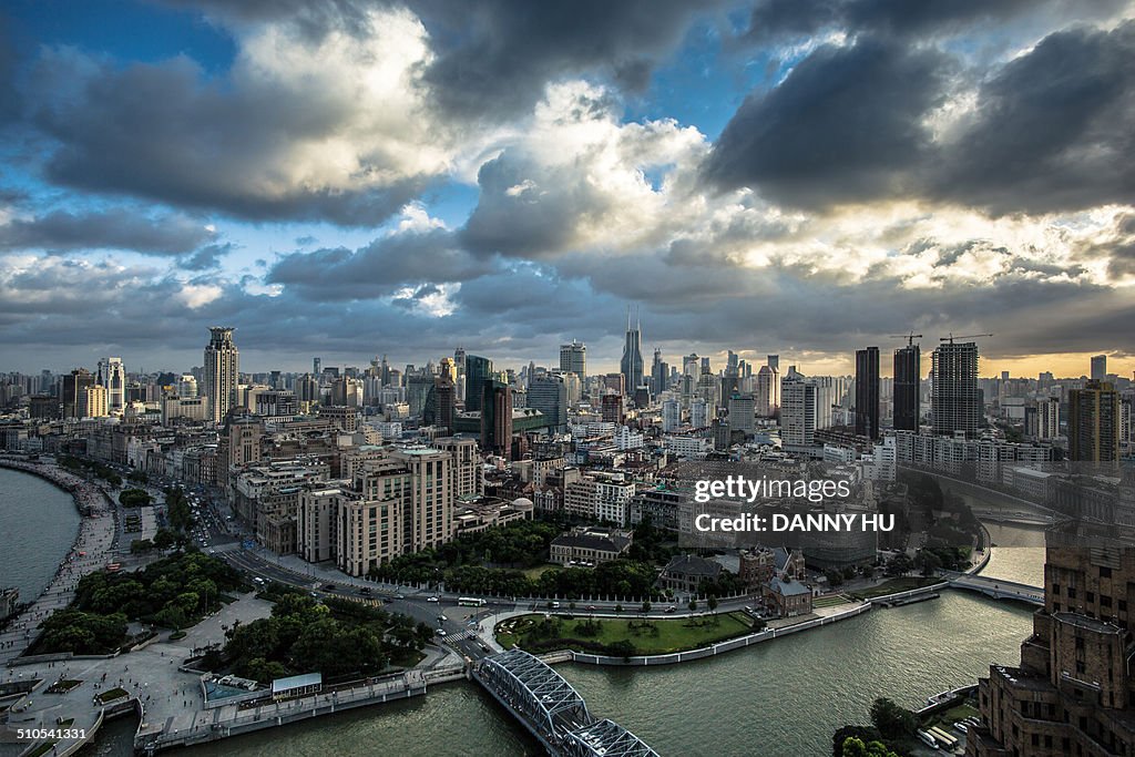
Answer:
[(741, 104), (705, 174), (794, 205), (826, 205), (905, 191), (930, 149), (924, 115), (942, 102), (953, 65), (891, 41), (825, 45), (768, 92)]

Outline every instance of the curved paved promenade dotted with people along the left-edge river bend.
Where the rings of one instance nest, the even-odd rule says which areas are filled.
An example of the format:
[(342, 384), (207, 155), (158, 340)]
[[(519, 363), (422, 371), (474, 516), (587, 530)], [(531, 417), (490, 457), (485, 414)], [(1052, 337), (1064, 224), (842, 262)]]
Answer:
[(114, 507), (96, 485), (53, 464), (0, 457), (0, 466), (39, 476), (69, 491), (83, 515), (78, 536), (48, 588), (0, 633), (0, 665), (3, 665), (24, 654), (39, 638), (41, 622), (72, 603), (81, 578), (112, 562), (116, 529)]

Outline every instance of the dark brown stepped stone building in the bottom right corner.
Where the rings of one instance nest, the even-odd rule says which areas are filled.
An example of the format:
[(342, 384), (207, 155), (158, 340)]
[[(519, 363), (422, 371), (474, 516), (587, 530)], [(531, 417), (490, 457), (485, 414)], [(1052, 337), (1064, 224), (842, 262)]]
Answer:
[(992, 665), (980, 681), (969, 757), (1135, 754), (1135, 549), (1102, 542), (1053, 546), (1050, 535), (1044, 607), (1020, 665)]

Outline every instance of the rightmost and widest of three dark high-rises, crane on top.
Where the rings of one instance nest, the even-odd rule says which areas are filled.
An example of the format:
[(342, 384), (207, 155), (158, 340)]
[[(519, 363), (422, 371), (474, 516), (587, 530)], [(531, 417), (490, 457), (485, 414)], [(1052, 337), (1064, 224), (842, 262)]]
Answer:
[(982, 399), (977, 389), (977, 345), (943, 342), (931, 356), (931, 427), (934, 434), (953, 436), (961, 431), (977, 436)]

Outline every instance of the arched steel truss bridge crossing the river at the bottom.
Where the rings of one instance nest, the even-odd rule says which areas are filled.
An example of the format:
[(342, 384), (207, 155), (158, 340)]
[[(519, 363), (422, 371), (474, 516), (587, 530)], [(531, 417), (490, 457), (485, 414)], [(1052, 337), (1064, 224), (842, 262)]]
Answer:
[(486, 657), (473, 667), (473, 678), (553, 757), (658, 757), (619, 723), (591, 715), (568, 681), (522, 649)]

